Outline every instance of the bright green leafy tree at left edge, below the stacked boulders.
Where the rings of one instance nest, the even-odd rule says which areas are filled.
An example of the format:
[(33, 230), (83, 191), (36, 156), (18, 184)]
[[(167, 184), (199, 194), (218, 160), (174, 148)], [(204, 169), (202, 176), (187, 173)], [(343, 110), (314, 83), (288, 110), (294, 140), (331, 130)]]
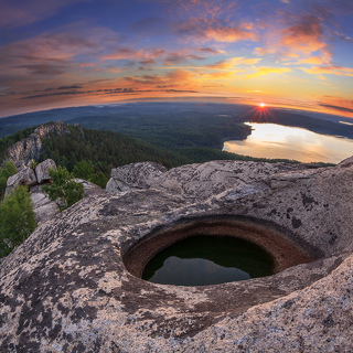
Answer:
[(0, 204), (0, 257), (22, 244), (35, 227), (31, 194), (25, 186), (17, 186)]

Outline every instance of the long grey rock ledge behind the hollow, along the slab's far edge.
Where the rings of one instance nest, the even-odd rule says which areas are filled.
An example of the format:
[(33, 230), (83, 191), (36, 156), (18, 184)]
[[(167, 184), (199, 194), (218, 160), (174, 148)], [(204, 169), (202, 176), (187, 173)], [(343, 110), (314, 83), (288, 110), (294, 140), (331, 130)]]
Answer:
[[(186, 202), (195, 202), (268, 175), (307, 168), (307, 164), (212, 161), (181, 165), (168, 171), (152, 162), (132, 163), (111, 170), (106, 191), (114, 194), (152, 188), (181, 195)], [(310, 168), (308, 171), (313, 172), (317, 168)]]

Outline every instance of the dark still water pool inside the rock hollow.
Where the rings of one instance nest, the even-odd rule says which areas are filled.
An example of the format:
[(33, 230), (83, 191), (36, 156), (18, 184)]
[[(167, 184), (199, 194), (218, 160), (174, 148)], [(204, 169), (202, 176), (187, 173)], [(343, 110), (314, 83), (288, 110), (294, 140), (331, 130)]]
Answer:
[(158, 253), (142, 278), (156, 284), (206, 286), (272, 275), (271, 257), (231, 236), (195, 235)]

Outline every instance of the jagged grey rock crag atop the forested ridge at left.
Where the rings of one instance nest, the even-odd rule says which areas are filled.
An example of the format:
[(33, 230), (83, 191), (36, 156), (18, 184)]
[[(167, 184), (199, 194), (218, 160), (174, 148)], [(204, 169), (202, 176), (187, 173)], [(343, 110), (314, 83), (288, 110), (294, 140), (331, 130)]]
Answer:
[(69, 130), (63, 121), (41, 125), (30, 137), (22, 139), (8, 149), (9, 158), (7, 161), (22, 161), (23, 164), (28, 164), (32, 159), (38, 160), (42, 150), (42, 138), (46, 138), (51, 133), (69, 133)]

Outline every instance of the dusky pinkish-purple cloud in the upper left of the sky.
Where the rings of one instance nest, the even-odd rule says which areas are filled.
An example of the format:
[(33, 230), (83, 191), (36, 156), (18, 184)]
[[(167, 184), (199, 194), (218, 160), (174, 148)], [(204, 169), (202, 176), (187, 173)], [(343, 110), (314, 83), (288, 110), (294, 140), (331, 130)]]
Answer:
[[(92, 65), (92, 62), (96, 62), (99, 53), (118, 39), (115, 32), (107, 29), (77, 30), (72, 25), (58, 33), (42, 33), (8, 43), (0, 47), (1, 84), (13, 88), (38, 85), (43, 81), (62, 84), (60, 77), (77, 75), (87, 67), (93, 69), (96, 64)], [(83, 64), (83, 56), (90, 63)]]

